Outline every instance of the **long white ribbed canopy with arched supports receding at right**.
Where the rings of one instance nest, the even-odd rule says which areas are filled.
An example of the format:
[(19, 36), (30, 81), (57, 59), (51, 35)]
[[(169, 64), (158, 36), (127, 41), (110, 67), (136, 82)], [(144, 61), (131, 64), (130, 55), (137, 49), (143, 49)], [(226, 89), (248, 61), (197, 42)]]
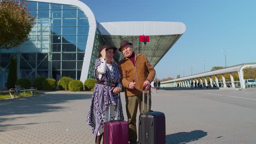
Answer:
[[(231, 66), (231, 67), (224, 68), (224, 69), (218, 69), (215, 71), (203, 72), (203, 73), (196, 74), (196, 75), (185, 76), (185, 77), (182, 77), (179, 79), (172, 79), (169, 81), (161, 82), (161, 87), (177, 87), (177, 84), (179, 84), (181, 87), (190, 87), (191, 82), (192, 81), (193, 81), (193, 83), (195, 82), (194, 79), (196, 79), (196, 81), (197, 81), (196, 83), (198, 83), (198, 80), (197, 80), (198, 78), (200, 78), (200, 79), (204, 78), (205, 84), (207, 85), (207, 80), (205, 78), (206, 77), (210, 78), (210, 76), (215, 76), (215, 82), (217, 84), (217, 87), (219, 87), (219, 83), (218, 83), (218, 79), (217, 79), (216, 75), (222, 75), (223, 87), (226, 88), (225, 77), (223, 76), (223, 74), (229, 73), (232, 87), (235, 88), (233, 76), (231, 73), (238, 72), (239, 79), (240, 79), (240, 86), (241, 86), (241, 88), (246, 88), (244, 79), (243, 79), (243, 69), (246, 67), (252, 67), (252, 66), (256, 66), (256, 63), (245, 63), (245, 64), (235, 65), (235, 66)], [(189, 81), (190, 81), (190, 83), (189, 83)], [(192, 85), (193, 85), (193, 83), (192, 83)], [(202, 81), (201, 81), (201, 83), (202, 83)], [(212, 86), (212, 83), (213, 83), (213, 79), (210, 78), (211, 86)]]

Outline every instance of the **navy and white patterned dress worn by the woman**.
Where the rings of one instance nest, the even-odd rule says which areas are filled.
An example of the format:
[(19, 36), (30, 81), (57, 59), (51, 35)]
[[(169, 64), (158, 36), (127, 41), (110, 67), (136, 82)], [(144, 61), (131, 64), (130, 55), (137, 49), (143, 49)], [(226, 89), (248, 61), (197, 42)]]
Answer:
[[(118, 65), (114, 62), (111, 62), (111, 65), (106, 64), (105, 59), (96, 62), (95, 79), (99, 82), (118, 83), (117, 87), (121, 88), (121, 75)], [(87, 123), (92, 126), (92, 133), (94, 135), (100, 135), (104, 132), (104, 124), (108, 121), (109, 106), (111, 106), (110, 120), (117, 119), (116, 111), (118, 111), (118, 119), (124, 120), (121, 98), (119, 97), (119, 110), (117, 110), (118, 94), (113, 94), (114, 88), (112, 86), (95, 84), (87, 116)]]

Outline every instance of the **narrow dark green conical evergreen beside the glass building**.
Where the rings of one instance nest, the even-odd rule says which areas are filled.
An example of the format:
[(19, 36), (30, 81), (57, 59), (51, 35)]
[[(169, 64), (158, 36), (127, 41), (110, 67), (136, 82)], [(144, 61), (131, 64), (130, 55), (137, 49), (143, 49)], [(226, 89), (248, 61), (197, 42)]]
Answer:
[(7, 76), (7, 88), (15, 88), (15, 82), (17, 80), (17, 63), (16, 60), (11, 56), (9, 72)]

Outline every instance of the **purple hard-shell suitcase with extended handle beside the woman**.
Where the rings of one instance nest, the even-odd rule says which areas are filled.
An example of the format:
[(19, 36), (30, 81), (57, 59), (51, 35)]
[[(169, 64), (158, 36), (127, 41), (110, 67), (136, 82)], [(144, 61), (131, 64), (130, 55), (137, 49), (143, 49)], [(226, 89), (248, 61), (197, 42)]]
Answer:
[[(118, 93), (118, 100), (119, 97), (120, 93)], [(118, 107), (119, 101), (117, 103), (116, 118), (118, 118)], [(122, 120), (109, 120), (110, 114), (108, 115), (108, 121), (104, 124), (103, 144), (128, 144), (128, 122)]]

